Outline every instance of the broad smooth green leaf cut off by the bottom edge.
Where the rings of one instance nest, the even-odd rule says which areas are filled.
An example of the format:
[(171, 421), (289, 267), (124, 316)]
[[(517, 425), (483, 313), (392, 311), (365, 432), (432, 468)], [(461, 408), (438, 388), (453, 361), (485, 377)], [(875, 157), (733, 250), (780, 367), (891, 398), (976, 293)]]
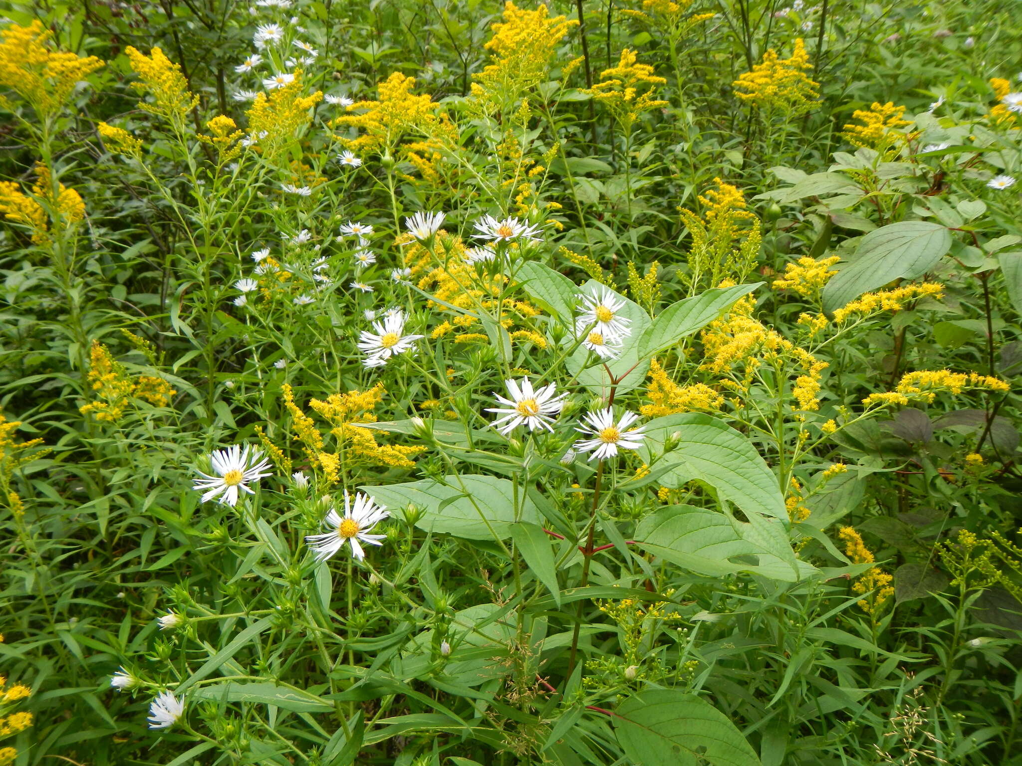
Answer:
[(614, 713), (617, 741), (637, 766), (759, 766), (755, 751), (727, 716), (677, 689), (651, 689)]

